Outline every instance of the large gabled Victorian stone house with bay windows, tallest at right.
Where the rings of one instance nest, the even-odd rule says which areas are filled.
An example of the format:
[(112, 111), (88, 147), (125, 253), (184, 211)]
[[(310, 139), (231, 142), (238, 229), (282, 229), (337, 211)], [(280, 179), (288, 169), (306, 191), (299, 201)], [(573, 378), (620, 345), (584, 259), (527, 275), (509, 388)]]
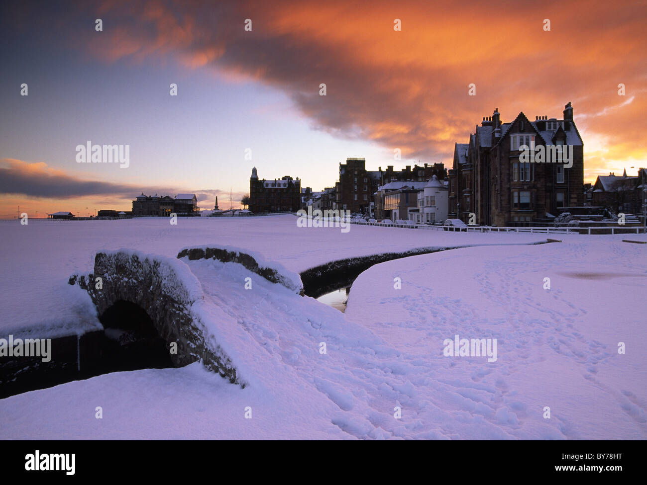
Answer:
[[(520, 157), (524, 145), (549, 147), (553, 154), (572, 150), (573, 165), (525, 161)], [(571, 103), (562, 119), (535, 116), (531, 121), (520, 112), (503, 123), (495, 109), (477, 125), (469, 143), (455, 144), (448, 179), (448, 216), (464, 222), (473, 212), (481, 225), (529, 225), (583, 205), (584, 146)]]

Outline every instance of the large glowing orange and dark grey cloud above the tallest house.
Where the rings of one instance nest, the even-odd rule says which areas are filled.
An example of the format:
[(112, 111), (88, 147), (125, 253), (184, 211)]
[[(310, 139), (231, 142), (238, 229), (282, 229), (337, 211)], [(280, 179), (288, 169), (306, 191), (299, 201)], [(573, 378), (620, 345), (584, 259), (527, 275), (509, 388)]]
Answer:
[[(588, 176), (645, 158), (645, 3), (113, 0), (66, 10), (75, 14), (49, 8), (61, 42), (91, 56), (171, 57), (256, 79), (290, 96), (314, 128), (407, 158), (449, 162), (454, 143), (494, 108), (503, 121), (521, 110), (561, 118), (568, 101)], [(104, 20), (101, 35), (87, 29), (89, 14)], [(34, 27), (34, 17), (22, 18)]]

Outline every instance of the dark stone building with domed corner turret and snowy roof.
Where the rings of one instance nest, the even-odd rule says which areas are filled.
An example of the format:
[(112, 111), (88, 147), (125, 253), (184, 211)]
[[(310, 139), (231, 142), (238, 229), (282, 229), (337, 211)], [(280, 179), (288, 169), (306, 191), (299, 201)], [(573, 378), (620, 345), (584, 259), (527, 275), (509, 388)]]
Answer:
[(259, 180), (256, 167), (249, 180), (249, 209), (261, 212), (295, 212), (302, 206), (301, 181), (283, 176), (276, 180)]

